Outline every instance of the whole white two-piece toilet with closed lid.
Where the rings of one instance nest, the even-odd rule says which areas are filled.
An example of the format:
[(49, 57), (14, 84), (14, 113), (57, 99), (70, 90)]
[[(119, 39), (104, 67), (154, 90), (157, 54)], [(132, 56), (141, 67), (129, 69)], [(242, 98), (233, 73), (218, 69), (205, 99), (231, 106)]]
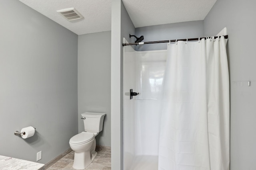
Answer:
[(74, 150), (74, 164), (75, 169), (84, 169), (88, 166), (97, 155), (96, 135), (102, 131), (103, 120), (105, 113), (82, 113), (84, 119), (84, 132), (73, 136), (69, 140), (69, 145)]

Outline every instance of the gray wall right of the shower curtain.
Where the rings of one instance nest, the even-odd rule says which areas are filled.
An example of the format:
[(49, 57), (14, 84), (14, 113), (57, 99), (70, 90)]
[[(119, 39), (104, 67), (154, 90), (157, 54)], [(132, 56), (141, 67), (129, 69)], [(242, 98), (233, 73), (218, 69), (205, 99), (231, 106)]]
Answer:
[(205, 36), (224, 27), (228, 32), (230, 170), (256, 169), (255, 6), (253, 0), (217, 0), (204, 20)]

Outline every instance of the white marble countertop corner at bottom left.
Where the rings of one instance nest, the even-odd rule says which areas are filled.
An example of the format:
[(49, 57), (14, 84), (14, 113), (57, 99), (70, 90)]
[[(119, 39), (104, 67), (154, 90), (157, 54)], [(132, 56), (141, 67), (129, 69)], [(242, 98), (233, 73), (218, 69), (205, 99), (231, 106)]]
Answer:
[(0, 155), (0, 170), (44, 170), (44, 164)]

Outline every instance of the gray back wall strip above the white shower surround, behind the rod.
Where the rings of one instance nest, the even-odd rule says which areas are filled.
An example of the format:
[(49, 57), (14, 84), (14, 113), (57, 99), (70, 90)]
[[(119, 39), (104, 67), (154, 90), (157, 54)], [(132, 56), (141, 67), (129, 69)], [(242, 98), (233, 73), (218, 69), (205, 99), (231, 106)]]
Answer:
[[(180, 23), (170, 23), (164, 25), (153, 25), (139, 27), (135, 29), (137, 37), (144, 36), (143, 42), (164, 41), (173, 39), (197, 38), (204, 36), (204, 21), (190, 21)], [(136, 38), (130, 38), (132, 43)], [(137, 45), (136, 51), (165, 50), (166, 43)]]

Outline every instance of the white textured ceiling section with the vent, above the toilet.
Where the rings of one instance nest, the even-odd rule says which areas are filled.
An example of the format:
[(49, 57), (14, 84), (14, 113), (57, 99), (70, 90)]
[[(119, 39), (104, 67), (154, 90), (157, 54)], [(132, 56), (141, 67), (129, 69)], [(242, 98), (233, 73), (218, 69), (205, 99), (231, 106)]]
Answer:
[[(111, 30), (111, 0), (20, 0), (77, 35)], [(57, 10), (75, 8), (84, 18), (68, 21)]]

